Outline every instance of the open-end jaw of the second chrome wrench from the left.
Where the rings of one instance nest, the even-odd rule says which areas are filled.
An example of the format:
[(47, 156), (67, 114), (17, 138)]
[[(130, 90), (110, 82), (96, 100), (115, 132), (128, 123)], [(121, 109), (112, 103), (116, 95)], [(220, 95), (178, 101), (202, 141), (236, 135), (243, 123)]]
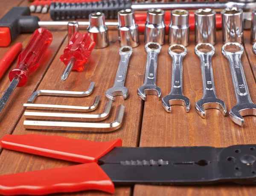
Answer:
[(154, 85), (143, 85), (138, 88), (137, 94), (144, 101), (146, 100), (146, 95), (156, 95), (160, 99), (162, 91), (158, 86)]

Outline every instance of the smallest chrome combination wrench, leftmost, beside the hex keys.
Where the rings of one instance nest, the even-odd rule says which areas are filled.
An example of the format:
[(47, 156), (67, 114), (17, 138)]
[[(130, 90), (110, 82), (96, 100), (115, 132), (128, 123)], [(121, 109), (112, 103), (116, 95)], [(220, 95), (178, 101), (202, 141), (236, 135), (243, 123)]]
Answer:
[(123, 46), (119, 49), (120, 62), (116, 73), (116, 80), (112, 88), (109, 88), (105, 95), (108, 99), (114, 101), (114, 97), (123, 96), (124, 99), (128, 97), (128, 88), (125, 85), (125, 78), (128, 68), (129, 59), (132, 54), (130, 46)]

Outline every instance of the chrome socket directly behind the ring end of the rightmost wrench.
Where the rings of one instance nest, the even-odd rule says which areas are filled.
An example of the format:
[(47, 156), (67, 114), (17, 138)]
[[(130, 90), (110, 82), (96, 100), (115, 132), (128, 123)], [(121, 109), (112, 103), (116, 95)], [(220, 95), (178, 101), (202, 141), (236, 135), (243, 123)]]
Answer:
[(226, 8), (221, 11), (222, 38), (224, 43), (243, 42), (243, 10), (240, 8)]

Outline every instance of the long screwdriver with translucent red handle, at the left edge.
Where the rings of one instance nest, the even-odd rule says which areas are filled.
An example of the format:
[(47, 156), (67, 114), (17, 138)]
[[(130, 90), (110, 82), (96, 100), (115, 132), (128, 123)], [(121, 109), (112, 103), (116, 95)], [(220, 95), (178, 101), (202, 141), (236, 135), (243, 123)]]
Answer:
[(0, 113), (12, 95), (16, 86), (24, 86), (28, 82), (29, 74), (32, 74), (39, 66), (47, 48), (52, 42), (52, 34), (45, 28), (38, 28), (33, 33), (26, 48), (20, 53), (17, 67), (9, 73), (12, 81), (0, 99)]

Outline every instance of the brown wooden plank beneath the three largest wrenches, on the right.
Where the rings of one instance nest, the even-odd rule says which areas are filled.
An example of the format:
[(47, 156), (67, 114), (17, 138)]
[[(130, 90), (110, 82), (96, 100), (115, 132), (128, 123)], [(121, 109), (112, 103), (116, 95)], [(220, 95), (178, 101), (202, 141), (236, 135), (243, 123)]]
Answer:
[[(221, 31), (217, 35), (215, 55), (212, 66), (216, 93), (224, 100), (228, 111), (236, 104), (230, 67), (227, 59), (221, 54)], [(256, 117), (246, 116), (245, 126), (233, 123), (230, 117), (223, 116), (216, 109), (206, 111), (206, 118), (201, 118), (195, 110), (195, 102), (203, 96), (200, 60), (194, 54), (194, 35), (190, 36), (188, 54), (183, 60), (183, 93), (191, 101), (191, 109), (186, 113), (183, 106), (172, 106), (172, 113), (162, 108), (161, 101), (155, 96), (148, 96), (143, 112), (143, 124), (140, 146), (215, 146), (226, 147), (237, 144), (256, 143)], [(164, 45), (158, 60), (157, 86), (162, 89), (162, 95), (169, 94), (171, 88), (172, 59), (167, 54), (168, 45)], [(255, 58), (255, 56), (249, 57)], [(251, 98), (256, 102), (256, 84), (244, 53), (242, 63), (249, 86)], [(209, 187), (179, 187), (179, 186), (146, 186), (135, 185), (134, 196), (140, 195), (254, 195), (255, 187), (209, 186)]]

